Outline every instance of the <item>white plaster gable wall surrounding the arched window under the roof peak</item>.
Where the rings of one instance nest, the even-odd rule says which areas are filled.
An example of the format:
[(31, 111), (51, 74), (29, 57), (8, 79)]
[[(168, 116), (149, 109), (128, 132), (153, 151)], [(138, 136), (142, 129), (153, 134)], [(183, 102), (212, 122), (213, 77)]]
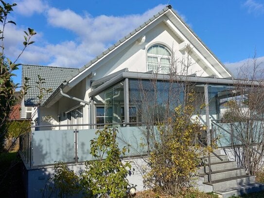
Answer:
[[(147, 49), (157, 43), (167, 46), (173, 52), (178, 62), (182, 59), (187, 60), (187, 53), (184, 54), (179, 51), (179, 44), (182, 41), (179, 40), (163, 22), (146, 32), (145, 37), (146, 40), (143, 44), (138, 45), (137, 42), (133, 42), (123, 49), (121, 53), (104, 63), (96, 70), (95, 79), (100, 79), (103, 76), (120, 71), (124, 68), (128, 68), (131, 72), (147, 72)], [(191, 56), (194, 57), (194, 54)], [(192, 59), (192, 66), (188, 74), (197, 73), (198, 76), (207, 76), (208, 74), (204, 72), (200, 65), (196, 63), (192, 57), (190, 58)]]

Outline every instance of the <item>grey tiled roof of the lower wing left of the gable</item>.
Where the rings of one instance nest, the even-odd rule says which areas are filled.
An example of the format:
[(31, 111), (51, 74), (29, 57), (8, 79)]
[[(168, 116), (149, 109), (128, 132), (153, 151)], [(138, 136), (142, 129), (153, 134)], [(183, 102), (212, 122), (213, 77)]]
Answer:
[[(36, 82), (39, 81), (38, 75), (45, 79), (43, 88), (56, 90), (61, 83), (73, 73), (76, 73), (78, 69), (75, 68), (61, 68), (61, 67), (49, 67), (38, 65), (23, 65), (22, 66), (22, 81), (25, 77), (30, 78), (28, 86), (30, 87), (27, 94), (24, 96), (25, 106), (36, 106), (39, 103), (37, 96), (40, 94), (39, 89), (36, 87)], [(22, 82), (23, 84), (24, 82)], [(44, 102), (47, 100), (52, 92), (44, 96)]]

